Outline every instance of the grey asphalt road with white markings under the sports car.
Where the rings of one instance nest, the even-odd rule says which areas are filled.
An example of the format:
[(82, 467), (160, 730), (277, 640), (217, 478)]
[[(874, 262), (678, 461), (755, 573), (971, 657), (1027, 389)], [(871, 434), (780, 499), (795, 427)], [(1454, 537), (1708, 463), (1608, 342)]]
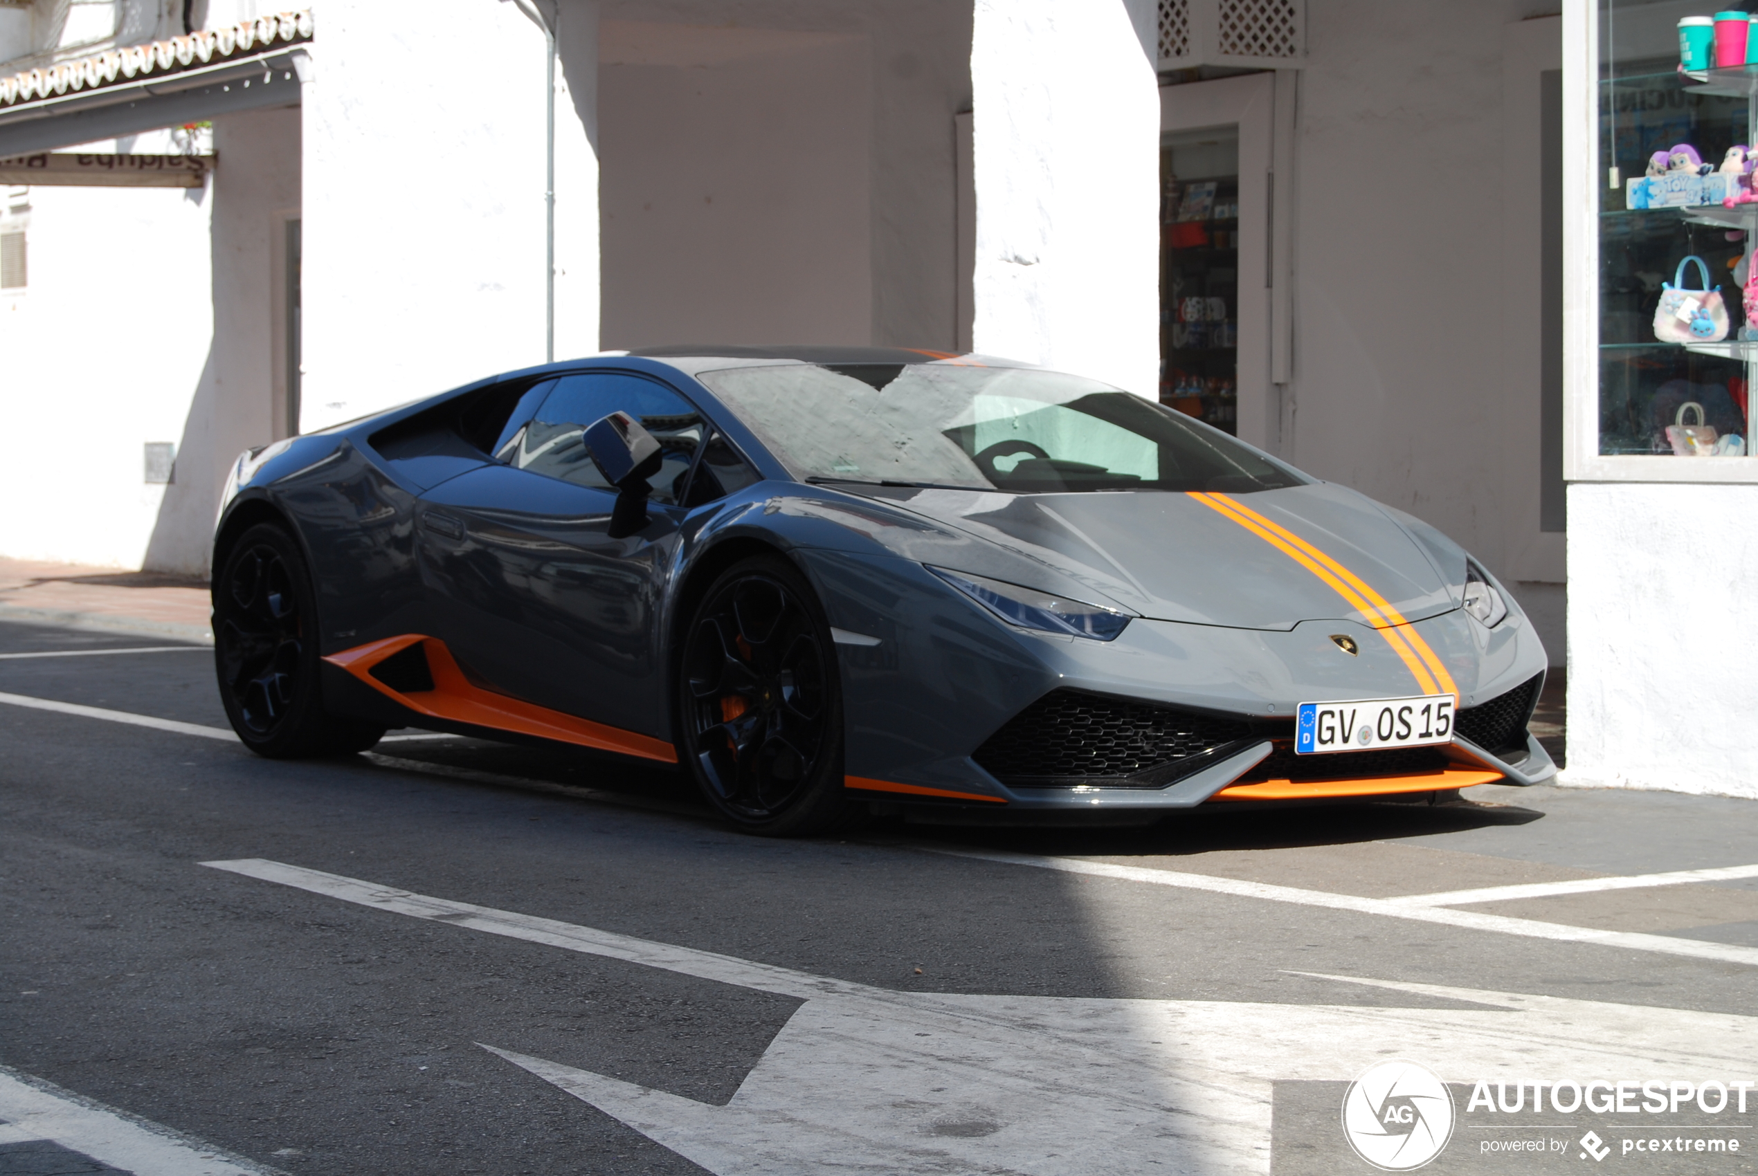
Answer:
[[(1373, 1171), (1338, 1107), (1389, 1056), (1463, 1083), (1431, 1171), (1600, 1167), (1577, 1129), (1754, 1171), (1758, 1092), (1466, 1107), (1758, 1079), (1758, 868), (1614, 881), (1753, 867), (1753, 802), (775, 842), (573, 752), (271, 763), (19, 703), (225, 728), (200, 649), (11, 657), (167, 645), (0, 624), (0, 1174)], [(1486, 1143), (1542, 1127), (1566, 1155)]]

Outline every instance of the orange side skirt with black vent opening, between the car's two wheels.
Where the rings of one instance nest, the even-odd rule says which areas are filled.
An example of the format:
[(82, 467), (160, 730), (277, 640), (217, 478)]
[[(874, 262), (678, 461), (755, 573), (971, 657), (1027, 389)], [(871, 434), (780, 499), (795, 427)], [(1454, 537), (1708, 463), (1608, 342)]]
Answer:
[[(399, 694), (371, 675), (373, 666), (418, 642), (425, 642), (427, 645), (427, 670), (432, 673), (434, 689)], [(380, 694), (403, 703), (410, 710), (434, 719), (468, 722), (494, 731), (536, 735), (538, 738), (552, 738), (559, 744), (615, 751), (624, 756), (640, 756), (661, 763), (677, 763), (677, 749), (665, 740), (605, 726), (591, 719), (578, 719), (559, 710), (550, 710), (548, 707), (538, 707), (536, 703), (526, 703), (473, 686), (464, 677), (464, 671), (459, 670), (452, 650), (436, 636), (422, 636), (420, 633), (389, 636), (381, 642), (369, 642), (345, 649), (339, 654), (331, 654), (323, 661), (346, 670)]]

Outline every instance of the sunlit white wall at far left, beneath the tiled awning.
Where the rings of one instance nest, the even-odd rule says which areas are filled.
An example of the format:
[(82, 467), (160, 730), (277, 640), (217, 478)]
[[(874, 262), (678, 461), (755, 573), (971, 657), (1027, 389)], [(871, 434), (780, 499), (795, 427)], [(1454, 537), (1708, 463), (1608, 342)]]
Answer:
[(142, 445), (181, 441), (209, 364), (213, 192), (32, 188), (30, 206), (30, 287), (0, 297), (0, 554), (139, 568), (167, 490), (200, 476), (179, 461), (174, 487), (146, 485)]

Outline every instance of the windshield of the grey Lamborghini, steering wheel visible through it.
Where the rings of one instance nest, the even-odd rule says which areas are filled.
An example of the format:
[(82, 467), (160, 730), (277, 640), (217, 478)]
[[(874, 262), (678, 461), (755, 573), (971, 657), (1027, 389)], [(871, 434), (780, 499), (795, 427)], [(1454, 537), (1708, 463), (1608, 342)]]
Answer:
[(1303, 482), (1173, 410), (1053, 371), (788, 364), (698, 380), (805, 482), (1016, 494), (1246, 494)]

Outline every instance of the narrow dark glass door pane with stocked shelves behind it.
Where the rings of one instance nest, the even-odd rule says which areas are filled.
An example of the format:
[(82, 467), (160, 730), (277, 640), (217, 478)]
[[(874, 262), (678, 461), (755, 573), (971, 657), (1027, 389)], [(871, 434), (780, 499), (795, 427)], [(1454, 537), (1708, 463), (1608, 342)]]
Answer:
[(1239, 431), (1239, 139), (1160, 146), (1160, 403)]

